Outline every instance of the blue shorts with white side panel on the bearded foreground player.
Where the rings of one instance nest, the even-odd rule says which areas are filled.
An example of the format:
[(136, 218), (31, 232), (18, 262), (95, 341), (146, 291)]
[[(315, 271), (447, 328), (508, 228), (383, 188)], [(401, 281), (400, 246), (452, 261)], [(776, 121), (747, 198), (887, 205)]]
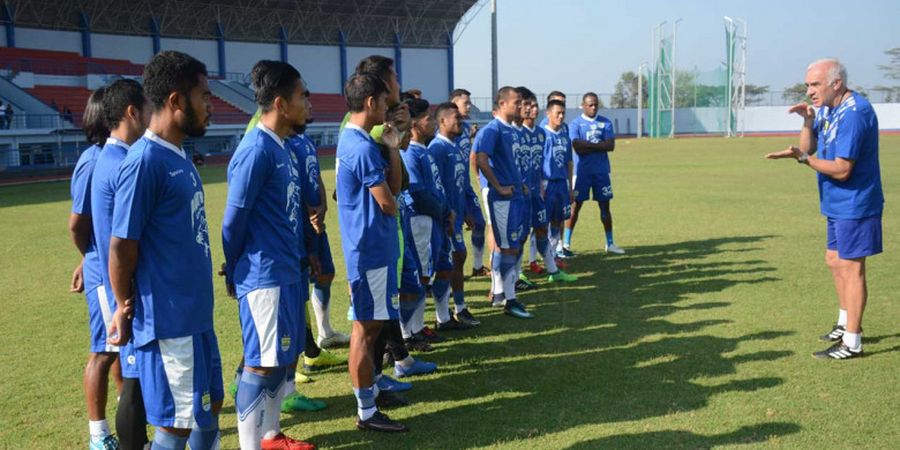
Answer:
[(212, 425), (212, 404), (225, 397), (213, 330), (156, 339), (135, 349), (147, 422), (157, 427)]

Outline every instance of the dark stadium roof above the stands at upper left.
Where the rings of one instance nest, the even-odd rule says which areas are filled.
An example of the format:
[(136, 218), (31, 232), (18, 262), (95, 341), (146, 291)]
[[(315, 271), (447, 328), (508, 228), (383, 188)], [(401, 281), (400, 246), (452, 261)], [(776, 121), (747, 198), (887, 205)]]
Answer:
[[(281, 28), (295, 44), (445, 47), (476, 0), (6, 0), (16, 26), (215, 39), (219, 25), (232, 41), (280, 41)], [(83, 14), (82, 14), (83, 13)]]

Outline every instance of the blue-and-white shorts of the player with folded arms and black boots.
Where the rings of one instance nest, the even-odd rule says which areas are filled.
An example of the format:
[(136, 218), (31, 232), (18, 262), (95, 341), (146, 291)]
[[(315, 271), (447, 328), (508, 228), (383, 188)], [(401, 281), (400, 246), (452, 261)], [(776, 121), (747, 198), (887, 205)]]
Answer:
[(398, 320), (397, 266), (359, 270), (350, 281), (350, 320)]

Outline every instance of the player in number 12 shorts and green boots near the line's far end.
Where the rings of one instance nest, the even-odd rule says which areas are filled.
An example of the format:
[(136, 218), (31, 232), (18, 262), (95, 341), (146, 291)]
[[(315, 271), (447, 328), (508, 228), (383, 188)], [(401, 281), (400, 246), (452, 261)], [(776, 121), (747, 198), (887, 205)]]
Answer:
[(545, 139), (542, 147), (543, 158), (541, 164), (542, 192), (547, 210), (547, 219), (550, 222), (550, 242), (542, 251), (544, 263), (549, 272), (550, 282), (577, 281), (574, 275), (569, 275), (557, 267), (554, 255), (556, 243), (559, 241), (563, 223), (571, 213), (572, 195), (572, 144), (569, 136), (563, 130), (566, 120), (566, 105), (559, 100), (550, 100), (547, 103), (547, 126), (544, 127)]

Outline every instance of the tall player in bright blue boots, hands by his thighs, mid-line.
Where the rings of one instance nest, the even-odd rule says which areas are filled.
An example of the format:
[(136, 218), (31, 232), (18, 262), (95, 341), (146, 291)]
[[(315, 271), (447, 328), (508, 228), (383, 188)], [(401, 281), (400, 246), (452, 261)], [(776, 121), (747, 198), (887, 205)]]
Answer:
[(487, 207), (497, 247), (491, 268), (494, 279), (493, 301), (503, 303), (504, 312), (518, 318), (531, 318), (531, 313), (516, 300), (516, 281), (519, 249), (523, 232), (523, 197), (527, 187), (516, 167), (513, 149), (519, 145), (519, 135), (511, 125), (522, 98), (516, 90), (504, 86), (497, 92), (497, 115), (475, 138), (472, 147), (478, 170), (487, 184)]

